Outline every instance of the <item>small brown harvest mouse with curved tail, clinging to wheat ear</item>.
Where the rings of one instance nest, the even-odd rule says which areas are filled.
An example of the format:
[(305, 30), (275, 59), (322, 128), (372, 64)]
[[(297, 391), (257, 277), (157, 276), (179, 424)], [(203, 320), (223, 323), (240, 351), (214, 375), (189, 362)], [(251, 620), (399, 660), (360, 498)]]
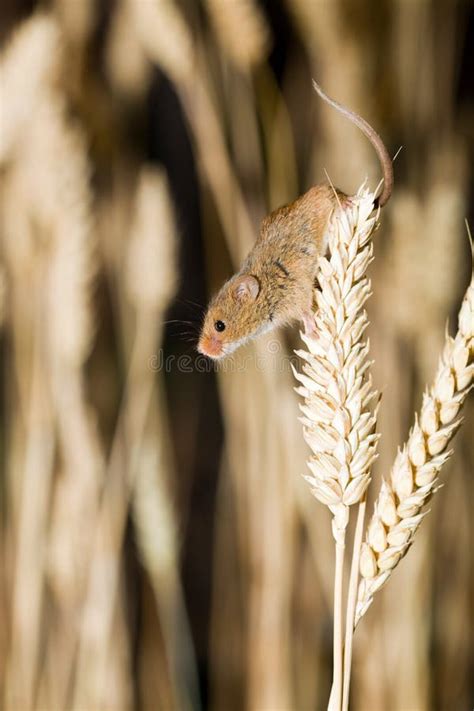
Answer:
[[(382, 207), (393, 187), (392, 161), (382, 139), (367, 121), (327, 96), (316, 82), (313, 85), (375, 148), (383, 189), (374, 207)], [(217, 360), (246, 341), (296, 320), (303, 321), (307, 332), (314, 330), (313, 289), (318, 257), (326, 251), (324, 233), (335, 207), (347, 199), (331, 185), (317, 185), (265, 217), (239, 272), (209, 304), (198, 343), (200, 353)]]

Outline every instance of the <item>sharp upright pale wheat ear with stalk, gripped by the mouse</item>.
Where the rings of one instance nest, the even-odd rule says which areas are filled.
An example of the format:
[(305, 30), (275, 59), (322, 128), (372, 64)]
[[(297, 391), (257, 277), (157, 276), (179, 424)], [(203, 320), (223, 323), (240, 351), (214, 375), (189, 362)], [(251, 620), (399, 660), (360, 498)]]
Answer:
[(313, 495), (329, 506), (336, 544), (334, 584), (334, 677), (330, 709), (342, 701), (342, 584), (349, 507), (363, 502), (376, 455), (376, 392), (368, 372), (368, 324), (364, 304), (370, 296), (365, 276), (372, 261), (371, 236), (377, 225), (374, 195), (364, 188), (328, 228), (329, 256), (319, 261), (320, 291), (315, 291), (315, 333), (303, 335), (307, 350), (297, 351), (303, 372), (295, 376), (303, 396), (301, 421), (312, 450)]

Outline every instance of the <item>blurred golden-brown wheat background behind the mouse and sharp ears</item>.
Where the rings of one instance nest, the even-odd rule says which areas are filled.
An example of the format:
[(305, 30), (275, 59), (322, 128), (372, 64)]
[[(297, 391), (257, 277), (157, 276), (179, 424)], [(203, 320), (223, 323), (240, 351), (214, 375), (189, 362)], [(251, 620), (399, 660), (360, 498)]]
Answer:
[[(297, 329), (215, 369), (209, 295), (260, 220), (395, 161), (371, 267), (389, 471), (470, 279), (474, 8), (4, 0), (0, 698), (9, 711), (311, 711), (330, 516), (301, 474)], [(352, 709), (469, 709), (472, 398), (446, 486), (355, 636)], [(377, 488), (377, 487), (376, 487)]]

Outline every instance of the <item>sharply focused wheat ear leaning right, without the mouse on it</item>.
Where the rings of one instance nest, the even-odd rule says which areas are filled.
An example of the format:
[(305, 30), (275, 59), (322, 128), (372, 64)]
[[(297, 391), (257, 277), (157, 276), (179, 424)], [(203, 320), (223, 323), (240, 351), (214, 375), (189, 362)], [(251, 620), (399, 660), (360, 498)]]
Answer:
[(355, 624), (374, 594), (410, 548), (427, 511), (424, 506), (440, 488), (438, 474), (452, 454), (448, 449), (462, 422), (460, 410), (474, 373), (474, 279), (459, 312), (458, 332), (446, 335), (435, 381), (423, 396), (407, 443), (397, 454), (389, 481), (383, 481), (367, 537), (362, 546)]

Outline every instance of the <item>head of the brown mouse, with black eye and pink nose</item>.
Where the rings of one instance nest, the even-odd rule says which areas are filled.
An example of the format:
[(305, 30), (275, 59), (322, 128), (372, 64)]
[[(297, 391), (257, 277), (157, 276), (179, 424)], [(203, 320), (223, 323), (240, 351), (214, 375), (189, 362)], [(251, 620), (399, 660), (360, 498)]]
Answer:
[(251, 274), (230, 279), (209, 305), (198, 343), (198, 351), (209, 358), (222, 358), (260, 330), (256, 301), (260, 283)]

